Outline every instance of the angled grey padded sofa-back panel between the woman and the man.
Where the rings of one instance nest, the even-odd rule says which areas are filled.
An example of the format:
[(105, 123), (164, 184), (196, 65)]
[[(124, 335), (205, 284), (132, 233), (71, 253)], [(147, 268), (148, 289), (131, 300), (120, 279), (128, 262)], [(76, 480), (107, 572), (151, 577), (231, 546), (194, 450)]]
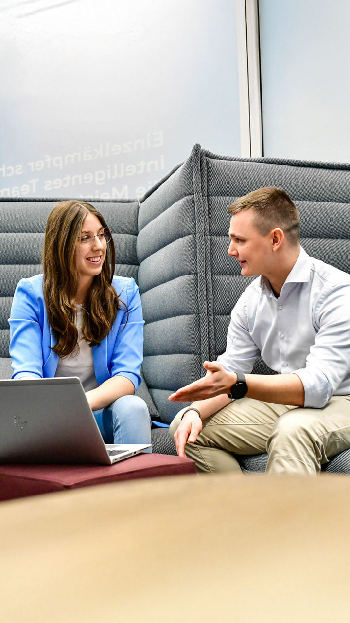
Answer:
[(164, 422), (171, 391), (201, 376), (207, 359), (205, 234), (200, 148), (140, 201), (137, 254), (144, 312), (143, 373)]

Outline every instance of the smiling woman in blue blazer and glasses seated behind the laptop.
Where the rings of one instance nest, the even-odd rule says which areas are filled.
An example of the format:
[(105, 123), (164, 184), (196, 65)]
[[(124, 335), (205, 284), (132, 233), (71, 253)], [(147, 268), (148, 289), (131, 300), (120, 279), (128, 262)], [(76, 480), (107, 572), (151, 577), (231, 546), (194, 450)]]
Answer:
[(113, 277), (100, 212), (61, 201), (47, 219), (44, 275), (21, 279), (11, 308), (12, 378), (78, 376), (105, 443), (150, 444), (141, 383), (143, 317), (135, 280)]

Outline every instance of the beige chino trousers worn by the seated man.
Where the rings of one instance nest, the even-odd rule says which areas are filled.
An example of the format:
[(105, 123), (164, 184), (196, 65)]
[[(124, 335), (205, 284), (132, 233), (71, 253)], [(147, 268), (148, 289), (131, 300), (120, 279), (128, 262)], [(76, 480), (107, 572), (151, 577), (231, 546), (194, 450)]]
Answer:
[[(173, 440), (183, 411), (171, 423)], [(204, 420), (196, 443), (187, 443), (185, 451), (199, 472), (240, 471), (235, 454), (268, 452), (267, 473), (316, 474), (348, 448), (350, 396), (333, 396), (322, 409), (244, 397)]]

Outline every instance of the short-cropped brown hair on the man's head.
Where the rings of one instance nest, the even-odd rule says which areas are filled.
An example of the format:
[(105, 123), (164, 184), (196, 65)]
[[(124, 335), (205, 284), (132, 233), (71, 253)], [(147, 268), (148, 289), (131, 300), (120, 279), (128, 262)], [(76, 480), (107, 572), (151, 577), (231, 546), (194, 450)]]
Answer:
[(280, 188), (259, 188), (236, 199), (229, 207), (230, 214), (237, 214), (242, 210), (255, 212), (255, 226), (260, 234), (266, 235), (274, 227), (280, 227), (291, 245), (299, 244), (299, 212), (291, 198)]

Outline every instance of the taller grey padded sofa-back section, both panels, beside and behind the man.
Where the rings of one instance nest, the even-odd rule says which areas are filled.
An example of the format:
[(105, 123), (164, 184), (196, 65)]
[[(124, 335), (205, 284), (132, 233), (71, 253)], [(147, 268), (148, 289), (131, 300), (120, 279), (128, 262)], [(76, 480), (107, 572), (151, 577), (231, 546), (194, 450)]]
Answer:
[[(251, 281), (227, 255), (228, 208), (265, 186), (283, 188), (301, 217), (308, 254), (350, 273), (350, 165), (226, 158), (195, 145), (140, 200), (137, 254), (143, 301), (143, 372), (170, 422), (171, 391), (202, 376), (225, 350), (230, 312)], [(255, 372), (271, 372), (260, 359)]]

